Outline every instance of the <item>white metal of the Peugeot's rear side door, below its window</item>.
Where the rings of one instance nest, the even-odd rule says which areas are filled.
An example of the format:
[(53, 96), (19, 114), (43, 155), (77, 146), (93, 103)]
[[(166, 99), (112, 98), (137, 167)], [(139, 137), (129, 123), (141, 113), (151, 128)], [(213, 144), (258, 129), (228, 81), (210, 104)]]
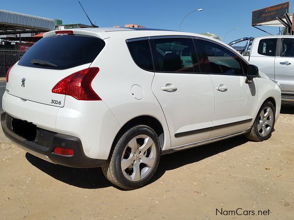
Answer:
[[(167, 84), (176, 86), (177, 90), (174, 92), (161, 90), (161, 87)], [(173, 147), (209, 138), (211, 131), (189, 136), (180, 135), (180, 133), (212, 127), (214, 94), (208, 75), (155, 73), (152, 91), (161, 104), (168, 122)], [(176, 134), (180, 137), (175, 137)]]

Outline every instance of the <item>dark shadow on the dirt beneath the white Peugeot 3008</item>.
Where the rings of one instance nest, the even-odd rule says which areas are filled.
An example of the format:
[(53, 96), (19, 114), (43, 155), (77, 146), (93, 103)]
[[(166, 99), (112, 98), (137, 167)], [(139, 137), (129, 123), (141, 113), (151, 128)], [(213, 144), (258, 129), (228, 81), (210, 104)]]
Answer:
[[(154, 176), (151, 178), (148, 184), (158, 180), (167, 170), (172, 170), (184, 165), (199, 162), (203, 159), (244, 144), (247, 141), (248, 140), (244, 136), (237, 136), (215, 143), (178, 151), (173, 154), (163, 155), (160, 158), (160, 163)], [(55, 165), (39, 159), (29, 153), (26, 154), (26, 158), (30, 164), (34, 165), (41, 171), (63, 183), (75, 187), (84, 189), (100, 189), (114, 186), (105, 178), (101, 168), (72, 168), (62, 165)]]

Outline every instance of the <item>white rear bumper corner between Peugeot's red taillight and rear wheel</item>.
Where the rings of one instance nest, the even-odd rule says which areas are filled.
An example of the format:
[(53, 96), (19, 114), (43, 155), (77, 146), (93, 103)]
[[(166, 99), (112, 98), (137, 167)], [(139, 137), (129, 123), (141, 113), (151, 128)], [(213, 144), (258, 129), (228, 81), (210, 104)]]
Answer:
[(107, 160), (120, 128), (103, 101), (77, 101), (66, 96), (56, 117), (56, 132), (80, 138), (86, 156), (93, 159)]

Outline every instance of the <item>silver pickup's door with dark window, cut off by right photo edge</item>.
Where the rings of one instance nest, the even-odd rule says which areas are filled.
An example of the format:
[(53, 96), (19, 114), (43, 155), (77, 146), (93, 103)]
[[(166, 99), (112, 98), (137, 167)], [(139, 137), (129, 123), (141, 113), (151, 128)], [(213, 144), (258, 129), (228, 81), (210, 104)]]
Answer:
[(275, 80), (283, 95), (294, 95), (294, 38), (281, 39), (281, 54), (275, 59)]

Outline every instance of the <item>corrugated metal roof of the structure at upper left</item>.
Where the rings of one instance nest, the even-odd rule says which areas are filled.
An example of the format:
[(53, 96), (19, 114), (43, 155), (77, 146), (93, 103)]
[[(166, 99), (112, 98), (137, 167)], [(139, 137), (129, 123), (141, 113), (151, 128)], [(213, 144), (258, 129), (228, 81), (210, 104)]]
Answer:
[(53, 19), (0, 9), (0, 34), (7, 31), (15, 32), (15, 30), (44, 32), (54, 29), (55, 24)]

